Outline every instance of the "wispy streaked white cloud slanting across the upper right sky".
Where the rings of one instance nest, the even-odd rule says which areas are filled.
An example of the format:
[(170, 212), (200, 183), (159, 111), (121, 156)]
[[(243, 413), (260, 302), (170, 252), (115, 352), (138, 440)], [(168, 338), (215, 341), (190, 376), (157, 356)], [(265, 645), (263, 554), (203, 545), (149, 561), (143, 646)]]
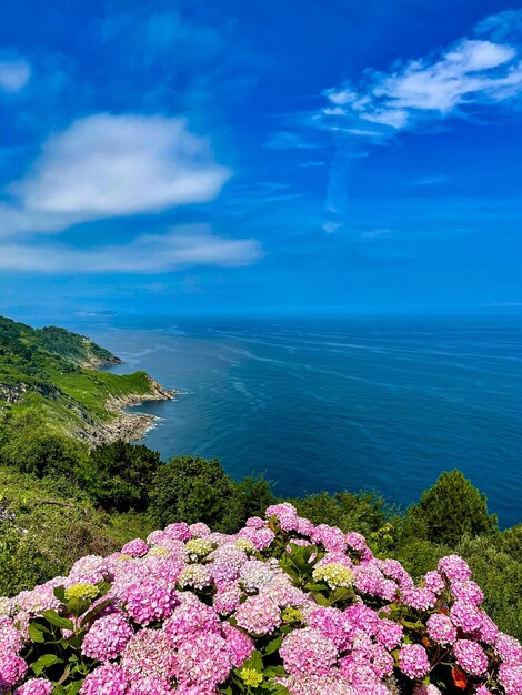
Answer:
[(399, 61), (389, 72), (370, 69), (359, 85), (327, 90), (329, 103), (319, 123), (334, 132), (385, 139), (434, 121), (469, 118), (478, 108), (515, 103), (522, 95), (516, 18), (522, 13), (486, 18), (476, 32), (489, 38), (463, 38), (438, 56)]

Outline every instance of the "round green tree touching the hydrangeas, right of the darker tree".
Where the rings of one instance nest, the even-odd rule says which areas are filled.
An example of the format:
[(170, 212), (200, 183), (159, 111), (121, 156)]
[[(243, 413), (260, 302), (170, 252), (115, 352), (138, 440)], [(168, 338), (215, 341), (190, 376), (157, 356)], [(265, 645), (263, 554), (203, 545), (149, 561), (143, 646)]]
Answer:
[(229, 531), (237, 487), (217, 459), (177, 456), (158, 470), (150, 487), (149, 512), (154, 523), (203, 522)]

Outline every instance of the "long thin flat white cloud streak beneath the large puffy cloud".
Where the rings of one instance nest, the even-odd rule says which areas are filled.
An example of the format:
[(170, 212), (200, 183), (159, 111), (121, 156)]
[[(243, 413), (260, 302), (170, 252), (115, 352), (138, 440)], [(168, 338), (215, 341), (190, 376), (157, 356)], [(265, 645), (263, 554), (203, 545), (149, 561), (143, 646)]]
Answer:
[(40, 273), (157, 274), (190, 266), (232, 268), (262, 258), (255, 239), (229, 239), (207, 225), (175, 228), (164, 235), (142, 235), (127, 244), (94, 249), (64, 245), (0, 245), (0, 269)]

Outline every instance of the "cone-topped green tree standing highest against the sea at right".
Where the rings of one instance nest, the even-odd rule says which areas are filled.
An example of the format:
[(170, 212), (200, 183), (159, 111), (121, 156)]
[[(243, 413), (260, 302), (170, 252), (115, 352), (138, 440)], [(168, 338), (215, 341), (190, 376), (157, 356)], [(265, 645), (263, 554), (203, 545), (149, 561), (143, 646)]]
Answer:
[(405, 536), (455, 546), (464, 536), (492, 533), (496, 514), (488, 514), (485, 494), (460, 472), (446, 471), (410, 507), (404, 525)]

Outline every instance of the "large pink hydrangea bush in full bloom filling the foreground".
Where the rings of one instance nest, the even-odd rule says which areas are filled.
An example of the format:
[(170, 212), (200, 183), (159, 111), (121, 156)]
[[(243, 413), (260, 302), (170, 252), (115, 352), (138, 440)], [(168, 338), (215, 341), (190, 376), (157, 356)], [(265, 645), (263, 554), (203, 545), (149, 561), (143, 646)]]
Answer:
[(175, 523), (0, 600), (0, 693), (522, 694), (522, 647), (451, 555), (415, 584), (357, 533), (267, 510)]

